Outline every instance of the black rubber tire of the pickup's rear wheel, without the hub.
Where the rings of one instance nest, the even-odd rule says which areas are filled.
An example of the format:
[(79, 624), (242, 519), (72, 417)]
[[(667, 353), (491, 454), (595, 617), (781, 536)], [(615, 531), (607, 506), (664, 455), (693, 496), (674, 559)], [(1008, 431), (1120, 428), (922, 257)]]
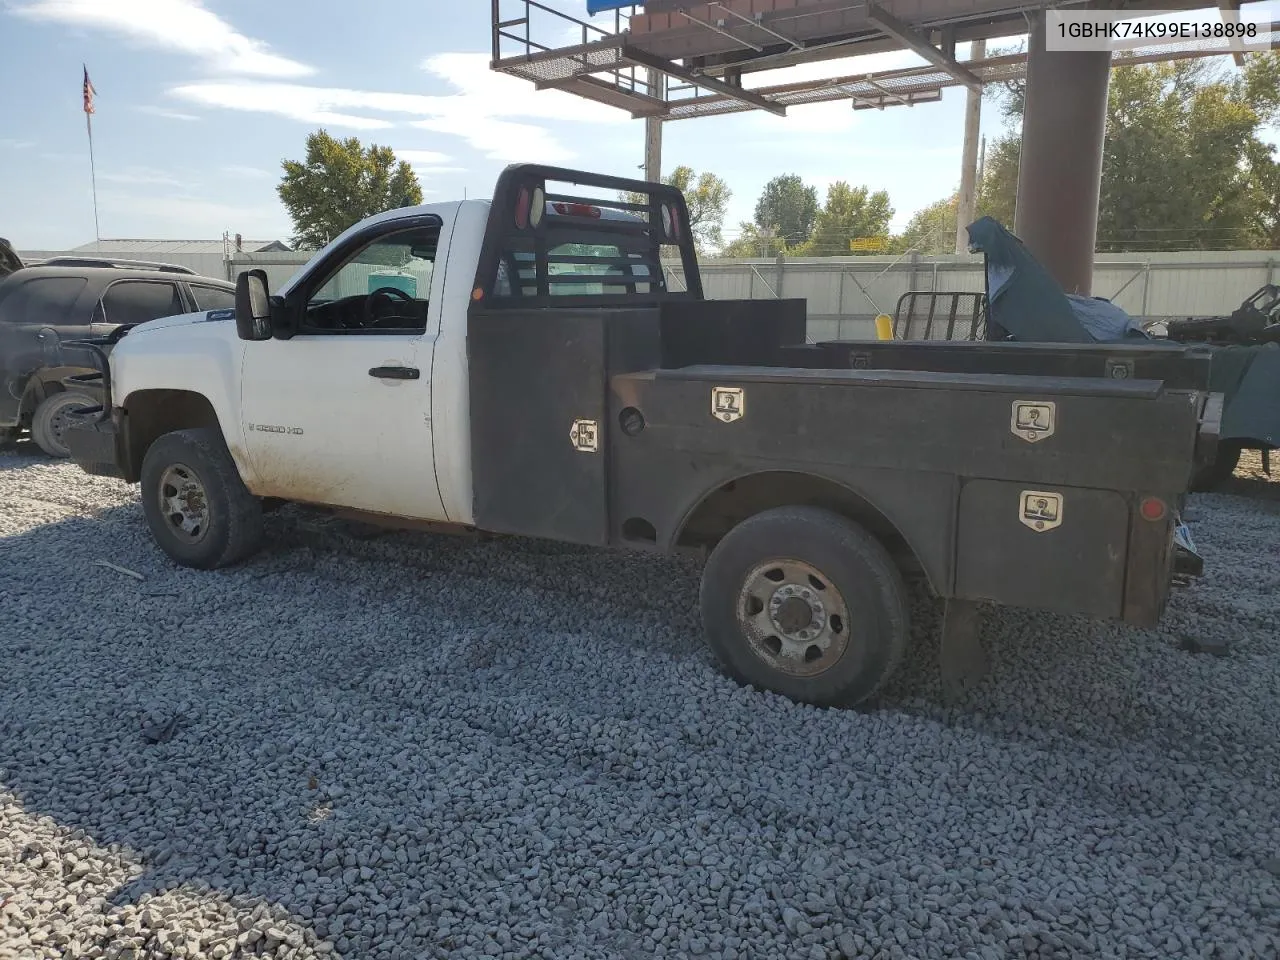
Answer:
[[(817, 568), (842, 599), (845, 646), (817, 676), (774, 668), (740, 621), (753, 571), (773, 561)], [(707, 561), (699, 599), (708, 643), (728, 676), (818, 707), (868, 700), (897, 668), (910, 637), (906, 586), (888, 552), (864, 527), (818, 507), (764, 511), (730, 530)]]

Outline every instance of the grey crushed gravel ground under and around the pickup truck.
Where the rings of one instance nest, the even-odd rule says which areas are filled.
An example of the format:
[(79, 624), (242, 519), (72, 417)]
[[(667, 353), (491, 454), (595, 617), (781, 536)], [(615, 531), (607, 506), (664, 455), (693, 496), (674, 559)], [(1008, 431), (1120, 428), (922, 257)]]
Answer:
[(197, 573), (0, 454), (0, 957), (1275, 957), (1276, 486), (1161, 630), (1001, 612), (943, 707), (918, 598), (852, 712), (722, 678), (689, 561), (285, 509)]

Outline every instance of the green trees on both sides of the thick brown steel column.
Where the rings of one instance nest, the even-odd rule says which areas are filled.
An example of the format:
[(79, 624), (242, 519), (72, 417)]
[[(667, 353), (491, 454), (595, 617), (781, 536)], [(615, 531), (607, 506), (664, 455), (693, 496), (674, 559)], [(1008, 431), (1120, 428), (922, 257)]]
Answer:
[[(1023, 90), (1002, 93), (1019, 123)], [(1206, 60), (1120, 65), (1111, 78), (1098, 250), (1225, 250), (1280, 241), (1280, 169), (1263, 140), (1280, 116), (1280, 54), (1234, 74)], [(1020, 138), (988, 154), (979, 211), (1014, 224)]]

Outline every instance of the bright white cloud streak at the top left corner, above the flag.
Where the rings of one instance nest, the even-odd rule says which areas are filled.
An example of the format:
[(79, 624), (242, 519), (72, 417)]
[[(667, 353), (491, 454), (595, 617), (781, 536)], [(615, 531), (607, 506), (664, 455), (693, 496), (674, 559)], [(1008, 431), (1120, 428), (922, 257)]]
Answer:
[(306, 77), (315, 69), (273, 54), (266, 44), (238, 32), (200, 0), (24, 0), (19, 17), (101, 29), (138, 44), (188, 54), (223, 73)]

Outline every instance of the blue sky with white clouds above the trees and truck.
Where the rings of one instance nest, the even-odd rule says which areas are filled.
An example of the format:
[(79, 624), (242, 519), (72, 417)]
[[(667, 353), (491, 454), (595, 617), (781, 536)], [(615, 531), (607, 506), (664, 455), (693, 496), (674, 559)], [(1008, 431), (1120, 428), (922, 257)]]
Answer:
[[(394, 147), (428, 200), (489, 196), (520, 160), (637, 175), (641, 122), (494, 74), (488, 50), (481, 0), (0, 0), (0, 236), (19, 250), (93, 239), (82, 63), (97, 88), (104, 237), (287, 238), (280, 161), (300, 159), (320, 125)], [(818, 69), (916, 63), (895, 54)], [(664, 169), (723, 177), (731, 228), (780, 173), (819, 192), (836, 179), (887, 189), (901, 225), (959, 182), (963, 106), (950, 90), (911, 109), (855, 113), (846, 101), (786, 119), (669, 123)], [(984, 132), (998, 125), (988, 106)]]

